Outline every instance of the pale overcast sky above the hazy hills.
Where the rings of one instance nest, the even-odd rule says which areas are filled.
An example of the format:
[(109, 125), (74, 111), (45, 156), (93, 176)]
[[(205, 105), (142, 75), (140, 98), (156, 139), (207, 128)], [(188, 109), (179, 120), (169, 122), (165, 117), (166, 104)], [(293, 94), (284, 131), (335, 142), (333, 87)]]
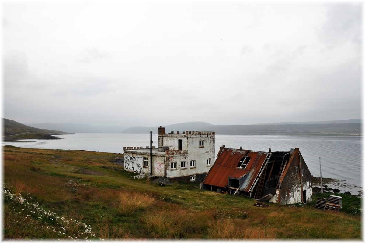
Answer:
[(2, 24), (18, 122), (361, 117), (360, 3), (3, 1)]

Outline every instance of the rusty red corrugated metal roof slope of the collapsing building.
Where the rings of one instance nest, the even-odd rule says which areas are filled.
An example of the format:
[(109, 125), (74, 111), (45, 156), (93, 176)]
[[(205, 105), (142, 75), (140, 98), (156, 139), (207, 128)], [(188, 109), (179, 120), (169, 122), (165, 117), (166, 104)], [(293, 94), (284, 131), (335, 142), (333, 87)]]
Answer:
[[(222, 147), (214, 165), (205, 177), (204, 184), (226, 187), (228, 186), (228, 177), (239, 179), (249, 173), (245, 187), (240, 188), (240, 190), (248, 192), (268, 154), (269, 152)], [(237, 168), (239, 161), (243, 156), (250, 157), (250, 161), (247, 164), (246, 169)]]

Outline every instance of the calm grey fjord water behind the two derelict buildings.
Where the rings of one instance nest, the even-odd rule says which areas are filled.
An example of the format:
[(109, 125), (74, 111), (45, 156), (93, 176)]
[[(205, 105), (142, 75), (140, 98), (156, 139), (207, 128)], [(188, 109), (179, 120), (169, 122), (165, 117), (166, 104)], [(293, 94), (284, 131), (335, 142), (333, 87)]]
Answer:
[[(37, 149), (72, 149), (99, 152), (123, 153), (123, 147), (149, 146), (150, 134), (104, 134), (78, 133), (57, 135), (63, 139), (32, 142), (3, 142), (3, 145)], [(157, 134), (153, 134), (153, 146), (157, 147)], [(219, 147), (268, 151), (290, 150), (299, 147), (313, 176), (319, 177), (319, 159), (321, 157), (322, 176), (342, 179), (344, 186), (340, 190), (353, 193), (361, 190), (361, 137), (360, 136), (249, 136), (216, 135), (215, 153)]]

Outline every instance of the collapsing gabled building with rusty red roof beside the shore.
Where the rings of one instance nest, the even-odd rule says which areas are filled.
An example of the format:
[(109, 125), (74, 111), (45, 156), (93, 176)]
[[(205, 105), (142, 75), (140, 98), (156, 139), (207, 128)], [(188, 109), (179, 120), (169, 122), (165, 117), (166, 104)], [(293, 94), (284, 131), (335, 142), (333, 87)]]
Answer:
[(280, 205), (312, 198), (312, 175), (299, 148), (260, 152), (222, 146), (203, 185)]

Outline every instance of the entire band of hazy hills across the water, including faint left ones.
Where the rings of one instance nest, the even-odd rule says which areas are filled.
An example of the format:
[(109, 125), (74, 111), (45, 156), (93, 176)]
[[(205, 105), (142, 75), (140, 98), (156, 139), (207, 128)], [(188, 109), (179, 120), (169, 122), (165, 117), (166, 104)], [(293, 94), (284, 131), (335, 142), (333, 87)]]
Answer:
[[(251, 125), (214, 125), (207, 122), (185, 122), (164, 125), (170, 131), (215, 131), (227, 135), (359, 135), (361, 119), (331, 120), (317, 122), (279, 122)], [(37, 123), (27, 124), (47, 130), (67, 132), (101, 132), (101, 133), (148, 133), (157, 132), (158, 126), (94, 126), (81, 123)]]

